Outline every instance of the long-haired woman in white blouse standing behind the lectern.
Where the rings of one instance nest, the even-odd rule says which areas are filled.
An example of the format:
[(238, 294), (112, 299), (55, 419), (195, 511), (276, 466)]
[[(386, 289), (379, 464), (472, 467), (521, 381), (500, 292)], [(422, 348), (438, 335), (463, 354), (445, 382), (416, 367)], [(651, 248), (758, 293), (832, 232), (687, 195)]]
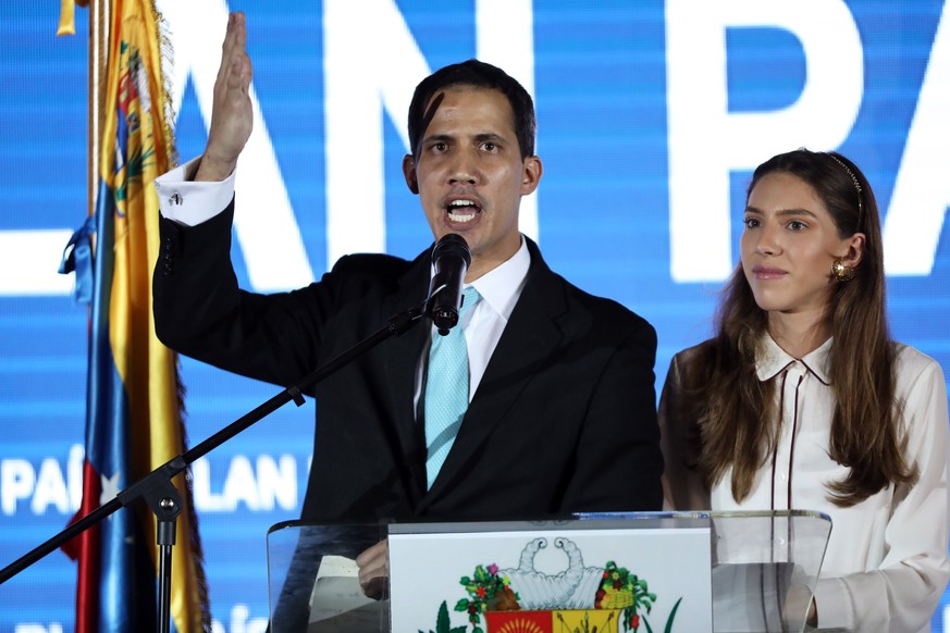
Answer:
[(896, 343), (871, 185), (835, 152), (761, 164), (715, 336), (661, 399), (677, 510), (831, 517), (810, 623), (929, 631), (950, 578), (950, 421), (940, 365)]

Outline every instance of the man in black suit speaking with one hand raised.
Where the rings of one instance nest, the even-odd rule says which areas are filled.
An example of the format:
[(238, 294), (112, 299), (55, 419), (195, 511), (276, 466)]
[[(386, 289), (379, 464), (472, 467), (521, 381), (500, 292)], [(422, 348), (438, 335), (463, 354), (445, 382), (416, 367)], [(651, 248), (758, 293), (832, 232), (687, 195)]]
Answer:
[[(252, 114), (244, 39), (244, 16), (234, 14), (206, 151), (159, 183), (156, 330), (185, 355), (288, 385), (420, 303), (431, 256), (344, 257), (320, 282), (286, 294), (237, 287), (233, 172)], [(470, 404), (444, 463), (427, 466), (434, 450), (424, 430), (428, 324), (318, 384), (303, 518), (658, 510), (653, 327), (553, 273), (518, 231), (521, 197), (542, 175), (530, 96), (495, 66), (447, 66), (417, 87), (409, 137), (403, 171), (432, 234), (458, 234), (471, 249), (465, 284), (478, 290), (477, 302), (457, 326), (468, 349)], [(195, 207), (203, 207), (197, 222)], [(374, 568), (382, 555), (384, 547), (358, 562)]]

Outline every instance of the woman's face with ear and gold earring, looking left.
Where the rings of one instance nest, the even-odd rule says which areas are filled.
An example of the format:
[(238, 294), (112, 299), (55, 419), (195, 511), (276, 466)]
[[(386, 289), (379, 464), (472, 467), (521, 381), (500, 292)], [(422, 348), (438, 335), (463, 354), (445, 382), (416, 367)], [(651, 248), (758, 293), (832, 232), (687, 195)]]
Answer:
[(863, 237), (839, 237), (812, 186), (782, 172), (756, 183), (749, 195), (744, 225), (742, 270), (758, 307), (770, 314), (821, 320), (835, 283), (831, 263), (841, 260), (856, 265)]

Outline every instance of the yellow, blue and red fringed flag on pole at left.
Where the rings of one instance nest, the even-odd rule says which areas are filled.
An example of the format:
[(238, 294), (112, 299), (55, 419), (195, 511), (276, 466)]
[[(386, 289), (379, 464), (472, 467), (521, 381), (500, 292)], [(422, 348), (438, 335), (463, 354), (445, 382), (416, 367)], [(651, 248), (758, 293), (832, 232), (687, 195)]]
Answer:
[[(109, 611), (114, 622), (125, 622), (128, 617), (141, 622), (155, 609), (149, 606), (150, 600), (139, 600), (135, 593), (139, 581), (147, 582), (144, 562), (147, 557), (138, 555), (148, 545), (138, 530), (148, 532), (146, 528), (151, 525), (157, 533), (157, 547), (149, 548), (150, 558), (158, 568), (162, 592), (158, 630), (169, 631), (172, 558), (178, 559), (175, 575), (181, 576), (174, 599), (176, 628), (186, 632), (208, 630), (207, 581), (187, 477), (181, 494), (171, 484), (173, 475), (168, 472), (169, 481), (161, 485), (133, 486), (152, 512), (129, 512), (106, 524), (110, 525), (108, 529), (100, 525), (104, 517), (133, 500), (126, 495), (124, 499), (101, 505), (102, 482), (111, 486), (113, 481), (135, 479), (156, 461), (183, 451), (186, 444), (175, 357), (155, 338), (148, 302), (151, 278), (148, 269), (155, 261), (158, 241), (157, 199), (151, 184), (173, 162), (175, 153), (171, 134), (173, 113), (163, 73), (165, 55), (172, 51), (156, 0), (62, 1), (58, 35), (75, 33), (74, 12), (70, 11), (74, 4), (89, 11), (88, 206), (86, 221), (70, 240), (72, 248), (60, 266), (62, 273), (76, 272), (76, 297), (91, 302), (86, 460), (81, 511), (67, 530), (35, 550), (44, 551), (35, 559), (62, 546), (71, 558), (78, 560), (77, 631), (118, 626), (102, 620), (109, 611), (102, 607), (107, 601), (110, 608), (121, 610)], [(158, 110), (152, 108), (156, 104)], [(116, 240), (116, 236), (121, 239)], [(77, 252), (82, 258), (74, 257)], [(137, 365), (148, 367), (148, 372), (139, 371)], [(112, 397), (94, 397), (100, 389)], [(176, 412), (170, 411), (176, 402)], [(90, 443), (90, 438), (102, 437), (109, 440)], [(184, 524), (188, 538), (173, 554), (175, 519), (182, 510), (186, 510)], [(83, 537), (73, 542), (72, 537), (81, 533)], [(107, 549), (120, 546), (109, 550), (115, 556), (103, 554), (102, 538), (108, 538)], [(26, 559), (17, 563), (25, 568), (30, 564)], [(14, 569), (15, 566), (10, 566), (0, 570), (0, 584), (16, 573)]]

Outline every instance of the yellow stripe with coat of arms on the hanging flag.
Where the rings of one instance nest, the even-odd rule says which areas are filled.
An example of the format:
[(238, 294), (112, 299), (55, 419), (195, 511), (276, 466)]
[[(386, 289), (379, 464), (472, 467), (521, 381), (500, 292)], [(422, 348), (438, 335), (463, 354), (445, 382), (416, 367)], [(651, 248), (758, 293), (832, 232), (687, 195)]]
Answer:
[[(151, 306), (159, 251), (153, 181), (173, 166), (174, 140), (153, 0), (112, 0), (111, 15), (100, 177), (115, 201), (109, 337), (129, 405), (135, 481), (186, 450), (177, 359), (155, 336)], [(172, 616), (178, 633), (199, 632), (208, 617), (200, 545), (190, 491), (183, 476), (175, 479), (186, 510), (177, 518), (173, 548)], [(144, 505), (140, 516), (157, 560), (155, 517)]]

